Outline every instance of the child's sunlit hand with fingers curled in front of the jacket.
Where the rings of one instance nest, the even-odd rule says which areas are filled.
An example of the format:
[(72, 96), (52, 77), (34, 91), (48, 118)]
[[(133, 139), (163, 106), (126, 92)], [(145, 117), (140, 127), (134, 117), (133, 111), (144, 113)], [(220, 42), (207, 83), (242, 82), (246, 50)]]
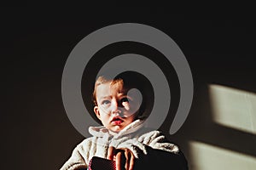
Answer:
[[(113, 146), (108, 148), (108, 159), (115, 161), (116, 170), (132, 170), (134, 166), (135, 156), (131, 150), (127, 148), (116, 149)], [(125, 164), (125, 165), (124, 165)]]

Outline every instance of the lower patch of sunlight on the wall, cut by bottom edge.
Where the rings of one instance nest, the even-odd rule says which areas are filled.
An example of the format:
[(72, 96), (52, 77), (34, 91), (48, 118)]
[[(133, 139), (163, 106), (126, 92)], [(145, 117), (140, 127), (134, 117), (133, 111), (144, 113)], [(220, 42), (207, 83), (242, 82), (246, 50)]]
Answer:
[(254, 170), (256, 157), (201, 142), (189, 142), (190, 170)]

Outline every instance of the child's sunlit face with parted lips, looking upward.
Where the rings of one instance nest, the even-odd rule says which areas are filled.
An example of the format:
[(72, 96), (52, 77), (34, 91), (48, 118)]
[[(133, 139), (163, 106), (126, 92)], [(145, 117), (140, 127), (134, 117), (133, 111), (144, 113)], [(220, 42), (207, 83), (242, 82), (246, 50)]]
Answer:
[(119, 132), (135, 120), (139, 104), (132, 96), (127, 96), (122, 83), (102, 83), (96, 87), (96, 116), (104, 127)]

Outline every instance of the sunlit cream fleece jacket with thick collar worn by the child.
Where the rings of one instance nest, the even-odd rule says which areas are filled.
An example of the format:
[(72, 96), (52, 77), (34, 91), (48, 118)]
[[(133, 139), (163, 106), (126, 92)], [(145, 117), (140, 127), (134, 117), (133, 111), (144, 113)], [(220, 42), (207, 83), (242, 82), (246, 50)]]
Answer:
[(108, 147), (127, 148), (139, 159), (140, 154), (147, 155), (146, 146), (157, 150), (178, 153), (177, 145), (166, 142), (165, 136), (157, 130), (143, 127), (143, 121), (131, 122), (119, 133), (108, 131), (106, 127), (90, 127), (92, 137), (84, 139), (73, 150), (72, 156), (61, 167), (61, 170), (87, 168), (93, 156), (107, 158)]

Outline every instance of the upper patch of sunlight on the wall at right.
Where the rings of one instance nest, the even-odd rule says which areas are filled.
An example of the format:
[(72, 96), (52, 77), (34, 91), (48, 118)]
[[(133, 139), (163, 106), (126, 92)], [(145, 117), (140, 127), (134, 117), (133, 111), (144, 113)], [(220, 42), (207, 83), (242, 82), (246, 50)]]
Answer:
[(214, 122), (256, 134), (256, 94), (211, 84), (209, 96)]

